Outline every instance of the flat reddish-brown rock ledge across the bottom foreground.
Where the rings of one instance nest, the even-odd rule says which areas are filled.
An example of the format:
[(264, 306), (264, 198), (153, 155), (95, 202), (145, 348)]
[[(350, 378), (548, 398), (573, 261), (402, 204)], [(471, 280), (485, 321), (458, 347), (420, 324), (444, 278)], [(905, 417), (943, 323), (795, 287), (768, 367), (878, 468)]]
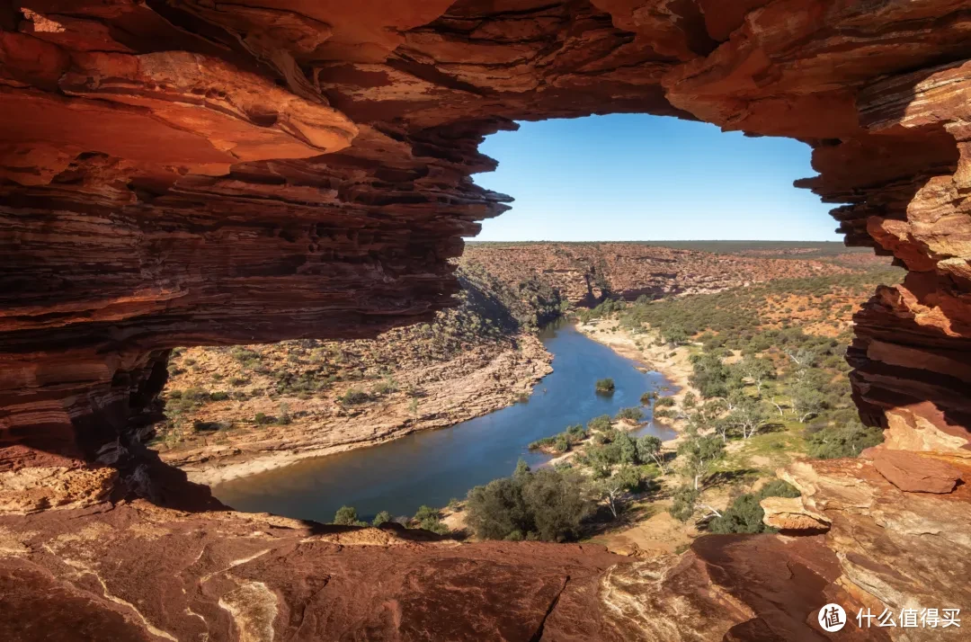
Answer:
[(5, 640), (816, 640), (814, 604), (854, 603), (820, 538), (775, 535), (634, 559), (136, 500), (0, 518), (0, 547)]

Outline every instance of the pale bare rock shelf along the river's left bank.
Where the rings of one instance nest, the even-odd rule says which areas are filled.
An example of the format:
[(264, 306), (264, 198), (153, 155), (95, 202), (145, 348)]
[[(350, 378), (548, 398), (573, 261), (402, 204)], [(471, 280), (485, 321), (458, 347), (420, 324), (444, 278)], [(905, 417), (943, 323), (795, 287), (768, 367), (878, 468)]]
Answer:
[[(552, 355), (535, 336), (517, 337), (517, 349), (471, 351), (446, 363), (396, 373), (402, 387), (420, 384), (417, 408), (405, 392), (344, 408), (333, 398), (266, 399), (220, 419), (249, 420), (274, 414), (281, 402), (296, 419), (286, 425), (253, 426), (206, 437), (201, 443), (162, 450), (167, 463), (192, 482), (217, 484), (294, 464), (303, 459), (383, 444), (420, 430), (442, 428), (509, 406), (552, 371)], [(331, 395), (334, 396), (334, 395)], [(239, 415), (239, 417), (235, 417)]]

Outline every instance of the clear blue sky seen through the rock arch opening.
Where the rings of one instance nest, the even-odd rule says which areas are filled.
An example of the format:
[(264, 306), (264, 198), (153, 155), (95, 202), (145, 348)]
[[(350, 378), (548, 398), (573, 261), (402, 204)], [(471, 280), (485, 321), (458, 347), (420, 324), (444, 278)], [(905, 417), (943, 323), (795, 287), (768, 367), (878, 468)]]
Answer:
[(839, 241), (810, 148), (644, 115), (522, 122), (489, 136), (481, 186), (516, 198), (480, 241)]

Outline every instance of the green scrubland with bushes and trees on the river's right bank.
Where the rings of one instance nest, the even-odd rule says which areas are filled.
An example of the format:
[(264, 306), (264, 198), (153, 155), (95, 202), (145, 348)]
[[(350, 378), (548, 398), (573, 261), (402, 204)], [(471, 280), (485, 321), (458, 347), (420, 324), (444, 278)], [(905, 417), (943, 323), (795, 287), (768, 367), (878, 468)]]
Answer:
[[(844, 356), (854, 306), (898, 278), (899, 271), (882, 269), (664, 301), (608, 301), (582, 313), (617, 319), (643, 341), (690, 353), (693, 391), (680, 402), (655, 391), (641, 400), (653, 403), (654, 419), (680, 426), (676, 448), (619, 429), (643, 419), (641, 408), (569, 426), (530, 447), (571, 456), (536, 471), (520, 462), (513, 476), (470, 491), (466, 524), (480, 538), (564, 541), (663, 499), (674, 518), (701, 532), (771, 530), (760, 500), (799, 494), (774, 479), (776, 466), (796, 456), (857, 456), (882, 441), (881, 430), (856, 417)], [(797, 314), (790, 302), (799, 302)], [(758, 490), (745, 490), (756, 482)]]

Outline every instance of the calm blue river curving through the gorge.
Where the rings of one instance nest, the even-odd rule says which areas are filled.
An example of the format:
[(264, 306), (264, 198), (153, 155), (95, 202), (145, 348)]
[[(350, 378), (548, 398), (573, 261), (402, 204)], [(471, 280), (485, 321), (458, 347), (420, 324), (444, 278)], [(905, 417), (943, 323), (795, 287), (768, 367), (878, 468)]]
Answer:
[[(474, 486), (511, 474), (519, 458), (531, 466), (548, 461), (550, 456), (530, 453), (528, 444), (571, 423), (639, 405), (641, 394), (668, 385), (659, 373), (640, 372), (633, 361), (587, 339), (573, 325), (551, 328), (542, 339), (553, 355), (553, 371), (533, 388), (527, 403), (380, 446), (307, 459), (221, 484), (213, 492), (237, 510), (317, 522), (332, 521), (343, 505), (367, 520), (382, 510), (414, 515), (422, 504), (445, 506)], [(604, 377), (612, 377), (617, 387), (611, 396), (594, 392)], [(653, 425), (637, 434), (673, 436)]]

